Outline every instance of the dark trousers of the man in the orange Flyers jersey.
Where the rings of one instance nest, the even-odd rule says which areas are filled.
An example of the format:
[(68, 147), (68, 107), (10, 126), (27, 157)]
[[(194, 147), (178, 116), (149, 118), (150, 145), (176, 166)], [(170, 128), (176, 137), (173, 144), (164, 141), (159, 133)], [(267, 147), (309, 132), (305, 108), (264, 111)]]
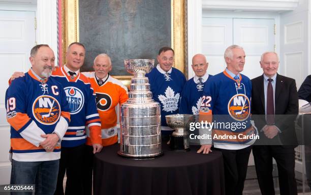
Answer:
[(93, 147), (86, 145), (84, 154), (84, 170), (83, 170), (84, 195), (92, 194), (93, 163), (94, 163)]

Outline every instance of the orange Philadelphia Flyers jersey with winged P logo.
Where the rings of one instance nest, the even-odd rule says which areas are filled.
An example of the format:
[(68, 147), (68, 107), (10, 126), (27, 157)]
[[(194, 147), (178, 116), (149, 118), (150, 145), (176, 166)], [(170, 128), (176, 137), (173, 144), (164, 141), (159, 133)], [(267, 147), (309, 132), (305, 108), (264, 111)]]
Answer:
[(102, 123), (102, 144), (103, 146), (114, 144), (117, 142), (116, 106), (128, 100), (128, 89), (109, 74), (102, 85), (99, 85), (95, 72), (83, 74), (89, 78), (91, 87), (96, 93), (97, 110)]

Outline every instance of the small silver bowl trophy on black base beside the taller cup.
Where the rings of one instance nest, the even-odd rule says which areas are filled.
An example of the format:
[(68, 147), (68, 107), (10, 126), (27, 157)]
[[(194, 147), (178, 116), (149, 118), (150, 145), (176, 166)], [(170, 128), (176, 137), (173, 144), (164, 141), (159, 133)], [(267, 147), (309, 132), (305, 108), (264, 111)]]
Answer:
[(194, 121), (193, 115), (167, 115), (166, 123), (174, 129), (170, 139), (170, 148), (177, 151), (189, 151), (189, 124)]

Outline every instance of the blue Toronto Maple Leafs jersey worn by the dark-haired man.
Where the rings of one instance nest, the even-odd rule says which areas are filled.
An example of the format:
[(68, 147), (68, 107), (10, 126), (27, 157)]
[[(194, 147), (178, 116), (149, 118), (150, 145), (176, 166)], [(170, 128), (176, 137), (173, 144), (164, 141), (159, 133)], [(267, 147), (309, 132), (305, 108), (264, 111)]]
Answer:
[(167, 126), (165, 116), (178, 114), (179, 100), (186, 81), (182, 72), (172, 68), (168, 74), (161, 73), (157, 68), (146, 74), (149, 79), (152, 98), (161, 105), (161, 124)]

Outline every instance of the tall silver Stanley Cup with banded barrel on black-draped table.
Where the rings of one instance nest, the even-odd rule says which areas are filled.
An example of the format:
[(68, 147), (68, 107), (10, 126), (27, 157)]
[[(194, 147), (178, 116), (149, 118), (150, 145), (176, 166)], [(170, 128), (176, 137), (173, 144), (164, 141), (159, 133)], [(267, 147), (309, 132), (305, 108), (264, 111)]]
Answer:
[(162, 154), (161, 108), (152, 99), (145, 74), (153, 68), (154, 60), (125, 60), (125, 68), (134, 75), (129, 99), (121, 106), (121, 136), (119, 155), (153, 157)]

